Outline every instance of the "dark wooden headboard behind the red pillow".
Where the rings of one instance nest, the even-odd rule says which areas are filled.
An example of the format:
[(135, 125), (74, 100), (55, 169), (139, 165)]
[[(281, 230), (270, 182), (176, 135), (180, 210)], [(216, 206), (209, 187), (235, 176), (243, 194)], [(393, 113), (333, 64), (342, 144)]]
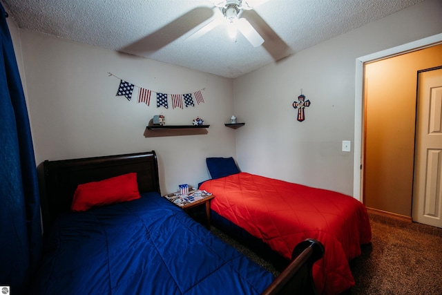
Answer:
[(95, 158), (44, 161), (40, 171), (41, 213), (44, 229), (50, 228), (60, 213), (70, 211), (78, 184), (104, 180), (117, 175), (137, 173), (140, 193), (160, 193), (155, 151), (108, 155)]

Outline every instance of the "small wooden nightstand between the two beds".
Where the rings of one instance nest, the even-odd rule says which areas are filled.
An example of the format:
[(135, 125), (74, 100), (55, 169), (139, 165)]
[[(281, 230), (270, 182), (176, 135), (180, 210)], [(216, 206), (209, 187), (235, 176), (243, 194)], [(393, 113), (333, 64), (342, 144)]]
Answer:
[(207, 191), (200, 191), (199, 189), (191, 190), (189, 193), (184, 195), (180, 193), (170, 193), (169, 195), (163, 196), (167, 200), (173, 202), (184, 211), (189, 211), (189, 209), (205, 204), (206, 205), (206, 228), (210, 230), (210, 202), (215, 196)]

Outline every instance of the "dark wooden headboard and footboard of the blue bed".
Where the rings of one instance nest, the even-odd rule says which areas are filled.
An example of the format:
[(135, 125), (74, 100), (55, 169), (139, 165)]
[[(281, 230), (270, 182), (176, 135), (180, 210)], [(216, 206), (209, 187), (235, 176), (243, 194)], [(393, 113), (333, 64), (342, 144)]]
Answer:
[[(148, 191), (160, 193), (155, 151), (44, 161), (39, 166), (44, 230), (50, 229), (59, 214), (70, 211), (70, 204), (78, 184), (104, 180), (131, 172), (137, 173), (140, 193)], [(323, 255), (324, 247), (317, 240), (308, 239), (300, 242), (293, 251), (289, 266), (262, 294), (316, 294), (311, 267)]]

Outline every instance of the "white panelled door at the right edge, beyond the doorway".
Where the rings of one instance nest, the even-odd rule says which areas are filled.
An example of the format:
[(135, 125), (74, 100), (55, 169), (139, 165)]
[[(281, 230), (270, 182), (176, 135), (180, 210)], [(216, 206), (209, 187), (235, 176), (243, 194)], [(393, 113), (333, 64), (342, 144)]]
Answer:
[(442, 68), (419, 73), (412, 218), (442, 227)]

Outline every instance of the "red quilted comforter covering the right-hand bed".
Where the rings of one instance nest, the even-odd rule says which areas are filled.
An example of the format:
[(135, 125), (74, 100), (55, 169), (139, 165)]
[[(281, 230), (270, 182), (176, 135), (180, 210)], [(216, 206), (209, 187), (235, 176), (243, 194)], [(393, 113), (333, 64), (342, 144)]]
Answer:
[(358, 200), (244, 172), (208, 180), (200, 189), (215, 195), (211, 209), (287, 259), (306, 238), (322, 242), (325, 256), (313, 268), (320, 294), (339, 294), (354, 285), (348, 261), (372, 239), (367, 210)]

